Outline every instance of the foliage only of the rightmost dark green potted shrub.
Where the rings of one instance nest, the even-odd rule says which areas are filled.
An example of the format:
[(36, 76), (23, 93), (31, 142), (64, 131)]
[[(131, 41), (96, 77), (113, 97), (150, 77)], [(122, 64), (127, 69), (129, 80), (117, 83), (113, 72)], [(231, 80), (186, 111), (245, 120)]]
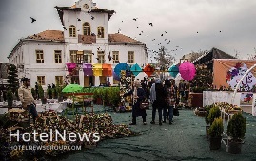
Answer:
[(234, 141), (241, 141), (246, 135), (246, 117), (242, 113), (236, 113), (229, 120), (227, 135)]

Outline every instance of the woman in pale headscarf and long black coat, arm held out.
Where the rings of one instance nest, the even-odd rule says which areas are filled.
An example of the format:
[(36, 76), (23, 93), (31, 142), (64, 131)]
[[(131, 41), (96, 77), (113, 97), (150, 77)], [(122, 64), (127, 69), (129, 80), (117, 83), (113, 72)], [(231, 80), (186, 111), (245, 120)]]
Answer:
[(129, 125), (136, 125), (136, 117), (142, 116), (143, 124), (146, 125), (146, 109), (140, 108), (140, 102), (145, 100), (146, 93), (141, 86), (139, 80), (133, 82), (133, 89), (128, 93), (124, 94), (124, 97), (132, 95), (133, 105), (132, 105), (132, 122)]

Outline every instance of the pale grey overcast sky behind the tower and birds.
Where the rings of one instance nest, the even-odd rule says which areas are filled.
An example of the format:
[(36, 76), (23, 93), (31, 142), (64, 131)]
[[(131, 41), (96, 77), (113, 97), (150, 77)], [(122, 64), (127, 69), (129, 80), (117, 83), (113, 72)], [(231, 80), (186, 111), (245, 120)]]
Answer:
[[(7, 56), (20, 38), (47, 29), (63, 30), (54, 7), (69, 7), (75, 2), (76, 0), (2, 0), (0, 62), (8, 62)], [(210, 50), (212, 47), (231, 55), (238, 53), (241, 59), (256, 52), (256, 0), (93, 2), (101, 9), (116, 11), (109, 21), (109, 33), (116, 33), (120, 29), (122, 34), (146, 43), (149, 50), (165, 46), (177, 59), (192, 51)], [(30, 17), (35, 18), (36, 22), (30, 23)], [(132, 20), (133, 18), (137, 18), (137, 21)], [(149, 52), (149, 56), (151, 55)]]

